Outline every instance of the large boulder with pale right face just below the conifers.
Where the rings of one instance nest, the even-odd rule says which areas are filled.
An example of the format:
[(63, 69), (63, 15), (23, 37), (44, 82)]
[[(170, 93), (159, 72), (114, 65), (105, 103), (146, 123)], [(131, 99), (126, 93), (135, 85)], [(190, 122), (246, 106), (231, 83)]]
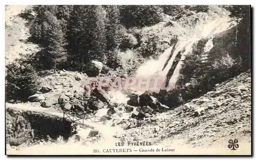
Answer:
[(103, 64), (98, 61), (91, 61), (86, 65), (83, 65), (82, 72), (86, 73), (89, 77), (95, 77), (99, 75), (101, 69), (103, 68)]

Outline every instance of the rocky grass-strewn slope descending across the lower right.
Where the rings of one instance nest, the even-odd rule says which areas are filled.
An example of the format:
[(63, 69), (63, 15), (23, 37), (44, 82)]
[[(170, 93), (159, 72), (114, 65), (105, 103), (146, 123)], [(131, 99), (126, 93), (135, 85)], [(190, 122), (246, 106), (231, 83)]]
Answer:
[[(215, 90), (193, 99), (174, 111), (146, 118), (141, 127), (127, 130), (124, 141), (147, 139), (168, 144), (181, 140), (180, 144), (193, 147), (212, 145), (222, 138), (251, 136), (251, 74), (242, 73), (216, 85)], [(223, 142), (222, 142), (223, 143)]]

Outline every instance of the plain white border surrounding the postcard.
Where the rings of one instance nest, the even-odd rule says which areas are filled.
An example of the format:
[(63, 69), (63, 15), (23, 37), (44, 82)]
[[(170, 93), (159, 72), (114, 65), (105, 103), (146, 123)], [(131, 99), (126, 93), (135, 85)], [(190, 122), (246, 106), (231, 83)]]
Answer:
[[(215, 0), (215, 1), (185, 1), (185, 0), (178, 0), (178, 1), (163, 1), (163, 0), (158, 0), (158, 1), (138, 1), (138, 0), (129, 0), (129, 1), (118, 1), (118, 0), (111, 0), (111, 1), (103, 1), (103, 0), (98, 0), (98, 1), (78, 1), (78, 0), (62, 0), (62, 1), (51, 1), (51, 0), (44, 0), (44, 1), (29, 1), (29, 0), (23, 0), (23, 1), (18, 1), (18, 0), (9, 0), (7, 2), (1, 1), (1, 21), (2, 21), (2, 25), (1, 26), (1, 44), (2, 47), (1, 49), (3, 50), (2, 54), (0, 55), (0, 65), (1, 65), (1, 104), (2, 104), (2, 112), (1, 113), (1, 147), (0, 147), (0, 151), (1, 151), (1, 156), (5, 159), (7, 158), (7, 156), (5, 156), (5, 88), (4, 88), (4, 83), (5, 83), (5, 27), (4, 27), (4, 19), (5, 19), (5, 5), (252, 5), (252, 7), (255, 7), (255, 1), (249, 1), (249, 0), (243, 0), (243, 1), (238, 1), (238, 0)], [(253, 16), (253, 21), (255, 21), (255, 17)], [(253, 25), (254, 26), (254, 25)], [(253, 29), (252, 29), (253, 30)], [(255, 34), (255, 32), (254, 32)], [(254, 34), (252, 35), (254, 37)], [(255, 41), (252, 44), (253, 46), (255, 46)], [(253, 53), (254, 54), (254, 53)], [(255, 58), (255, 56), (254, 56)], [(254, 61), (254, 58), (252, 61)], [(255, 61), (254, 61), (255, 62)], [(253, 68), (254, 69), (254, 68)], [(253, 76), (254, 79), (254, 76)], [(254, 86), (253, 89), (254, 90)], [(255, 99), (255, 93), (254, 96), (252, 97), (252, 99)], [(253, 115), (255, 116), (255, 108), (253, 109)], [(254, 121), (253, 124), (255, 125), (255, 117), (254, 117)], [(254, 129), (253, 129), (253, 133), (255, 133)], [(255, 134), (254, 134), (255, 135)], [(255, 137), (254, 137), (255, 139)], [(255, 146), (254, 146), (254, 150), (253, 153), (255, 154)], [(28, 157), (22, 157), (22, 158), (28, 158)], [(30, 158), (39, 158), (39, 157), (30, 157)], [(57, 158), (57, 157), (42, 157), (42, 158), (47, 158), (47, 159), (53, 159), (53, 158)], [(63, 157), (61, 157), (63, 158)], [(66, 157), (66, 158), (71, 158), (71, 157)], [(72, 157), (73, 158), (73, 157)], [(91, 157), (81, 157), (81, 158), (91, 158)], [(102, 157), (93, 157), (93, 158), (102, 158)], [(113, 158), (113, 157), (110, 157)], [(122, 158), (122, 159), (126, 159), (127, 157), (115, 157), (115, 158)], [(137, 157), (134, 157), (137, 158)], [(158, 157), (140, 157), (140, 158), (158, 158)], [(164, 158), (164, 157), (161, 157)], [(167, 157), (165, 157), (167, 158)], [(168, 157), (168, 158), (172, 158), (172, 159), (177, 159), (177, 157)], [(188, 157), (180, 157), (180, 158), (188, 158)], [(190, 157), (191, 158), (191, 157)], [(198, 157), (193, 157), (193, 158), (198, 158)], [(212, 157), (201, 157), (201, 158), (212, 158)], [(233, 157), (217, 157), (219, 159), (223, 159), (223, 158), (233, 158)], [(237, 157), (237, 158), (243, 158), (243, 157)], [(1, 158), (2, 159), (2, 158)]]

